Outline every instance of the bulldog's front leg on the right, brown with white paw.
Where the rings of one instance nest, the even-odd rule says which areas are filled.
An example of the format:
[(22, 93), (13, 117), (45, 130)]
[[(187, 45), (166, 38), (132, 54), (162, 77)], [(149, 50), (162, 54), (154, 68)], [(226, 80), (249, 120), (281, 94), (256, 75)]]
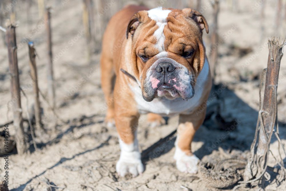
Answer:
[(174, 159), (178, 170), (186, 173), (197, 173), (198, 158), (191, 151), (191, 143), (198, 128), (204, 122), (206, 110), (180, 115), (178, 134), (175, 141)]

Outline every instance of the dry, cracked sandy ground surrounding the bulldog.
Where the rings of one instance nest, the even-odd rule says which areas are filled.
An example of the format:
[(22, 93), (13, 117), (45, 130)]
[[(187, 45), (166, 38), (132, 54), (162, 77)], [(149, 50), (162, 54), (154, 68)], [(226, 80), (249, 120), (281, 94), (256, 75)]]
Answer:
[[(106, 1), (107, 3), (109, 1)], [(113, 1), (112, 1), (113, 2)], [(143, 1), (142, 1), (143, 2)], [(161, 1), (164, 7), (180, 7), (183, 4)], [(208, 1), (202, 2), (202, 9), (210, 27), (212, 7)], [(108, 8), (107, 17), (127, 3), (137, 1), (116, 1)], [(156, 4), (158, 3), (158, 4)], [(53, 8), (53, 57), (56, 81), (56, 105), (60, 119), (53, 116), (47, 103), (40, 98), (43, 107), (43, 123), (48, 136), (37, 138), (39, 150), (34, 149), (30, 141), (30, 154), (17, 155), (14, 150), (9, 156), (9, 189), (20, 190), (218, 190), (209, 187), (199, 174), (184, 174), (176, 169), (173, 159), (174, 138), (162, 147), (157, 147), (150, 158), (144, 159), (145, 172), (136, 177), (119, 177), (115, 170), (120, 148), (115, 128), (104, 124), (106, 104), (100, 87), (100, 52), (94, 53), (91, 63), (87, 60), (86, 39), (82, 24), (82, 1), (47, 1)], [(160, 5), (160, 1), (144, 1), (149, 7)], [(257, 6), (257, 7), (256, 7)], [(255, 8), (257, 9), (255, 9)], [(268, 2), (265, 9), (265, 35), (260, 33), (260, 5), (255, 1), (239, 1), (238, 11), (233, 11), (228, 1), (221, 1), (219, 14), (219, 61), (216, 83), (223, 84), (219, 89), (221, 115), (224, 119), (237, 120), (238, 126), (229, 135), (220, 131), (217, 124), (205, 122), (200, 127), (192, 150), (202, 159), (211, 154), (209, 149), (214, 142), (221, 140), (219, 147), (227, 150), (246, 151), (253, 141), (259, 109), (259, 82), (263, 68), (267, 66), (267, 37), (275, 34), (285, 35), (283, 29), (274, 29), (276, 3)], [(46, 95), (46, 43), (45, 29), (38, 19), (37, 4), (31, 7), (32, 24), (27, 24), (26, 4), (17, 1), (15, 5), (17, 27), (18, 59), (20, 84), (29, 98), (29, 107), (33, 103), (31, 79), (28, 75), (28, 49), (24, 39), (31, 34), (37, 50), (39, 88)], [(284, 14), (284, 13), (283, 13)], [(211, 30), (210, 30), (211, 31)], [(1, 32), (1, 31), (0, 31)], [(210, 34), (204, 33), (207, 53), (210, 52)], [(67, 47), (67, 50), (64, 50)], [(95, 46), (100, 49), (100, 44)], [(256, 55), (255, 55), (256, 53)], [(0, 41), (0, 124), (12, 120), (10, 100), (7, 48)], [(280, 137), (286, 144), (286, 59), (281, 61), (278, 86), (278, 119)], [(210, 97), (215, 97), (210, 95)], [(26, 98), (21, 97), (23, 118), (27, 119)], [(65, 123), (61, 122), (64, 121)], [(56, 125), (55, 125), (56, 124)], [(167, 125), (151, 128), (146, 116), (140, 118), (138, 140), (141, 151), (164, 138), (177, 128), (178, 117), (168, 120)], [(25, 130), (28, 124), (24, 122)], [(54, 130), (56, 126), (56, 130)], [(2, 129), (1, 129), (2, 130)], [(13, 135), (13, 125), (9, 125)], [(224, 139), (220, 139), (223, 135)], [(29, 138), (30, 139), (30, 138)], [(277, 157), (277, 140), (271, 142), (273, 154)], [(146, 152), (146, 151), (145, 151)], [(283, 156), (285, 158), (285, 156)], [(284, 160), (286, 162), (286, 160)], [(276, 162), (271, 156), (269, 166)], [(0, 158), (0, 174), (4, 174), (4, 159)], [(2, 178), (1, 178), (2, 179)], [(272, 180), (273, 181), (273, 180)], [(54, 187), (50, 187), (53, 185)], [(268, 190), (286, 190), (285, 185), (276, 184)], [(226, 189), (228, 190), (228, 189)]]

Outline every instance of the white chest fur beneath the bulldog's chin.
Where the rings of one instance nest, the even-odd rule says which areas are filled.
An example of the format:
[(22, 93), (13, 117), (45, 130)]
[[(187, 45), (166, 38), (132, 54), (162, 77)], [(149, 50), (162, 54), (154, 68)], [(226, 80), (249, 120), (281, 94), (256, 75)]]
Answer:
[(188, 101), (182, 98), (176, 98), (174, 100), (168, 100), (165, 97), (154, 98), (151, 102), (146, 102), (142, 97), (142, 92), (139, 87), (131, 87), (134, 92), (134, 99), (138, 104), (138, 110), (141, 114), (155, 113), (170, 116), (173, 114), (189, 114), (199, 104), (199, 100), (202, 96), (206, 80), (208, 78), (209, 65), (206, 59), (202, 71), (198, 75), (196, 85), (194, 86), (194, 97)]

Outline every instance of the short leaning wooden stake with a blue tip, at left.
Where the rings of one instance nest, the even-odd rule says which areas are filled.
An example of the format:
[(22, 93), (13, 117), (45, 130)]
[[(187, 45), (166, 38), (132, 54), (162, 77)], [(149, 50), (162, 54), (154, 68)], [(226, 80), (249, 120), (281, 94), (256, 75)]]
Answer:
[(35, 120), (36, 120), (36, 129), (43, 129), (43, 125), (41, 123), (41, 107), (39, 100), (39, 87), (38, 87), (38, 75), (37, 75), (37, 67), (36, 67), (36, 53), (34, 48), (34, 43), (29, 42), (29, 58), (30, 58), (30, 70), (31, 70), (31, 78), (33, 80), (33, 94), (34, 94), (34, 110), (35, 110)]

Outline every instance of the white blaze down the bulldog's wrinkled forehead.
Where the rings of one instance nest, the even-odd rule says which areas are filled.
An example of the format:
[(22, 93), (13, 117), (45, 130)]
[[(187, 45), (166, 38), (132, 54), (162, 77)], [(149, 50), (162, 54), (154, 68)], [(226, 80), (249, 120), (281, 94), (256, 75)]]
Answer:
[(156, 25), (158, 25), (158, 29), (154, 32), (154, 36), (157, 39), (157, 43), (155, 45), (158, 48), (159, 52), (165, 51), (164, 41), (164, 27), (167, 24), (167, 17), (171, 10), (163, 10), (162, 7), (157, 7), (155, 9), (150, 9), (148, 11), (148, 16), (156, 21)]

